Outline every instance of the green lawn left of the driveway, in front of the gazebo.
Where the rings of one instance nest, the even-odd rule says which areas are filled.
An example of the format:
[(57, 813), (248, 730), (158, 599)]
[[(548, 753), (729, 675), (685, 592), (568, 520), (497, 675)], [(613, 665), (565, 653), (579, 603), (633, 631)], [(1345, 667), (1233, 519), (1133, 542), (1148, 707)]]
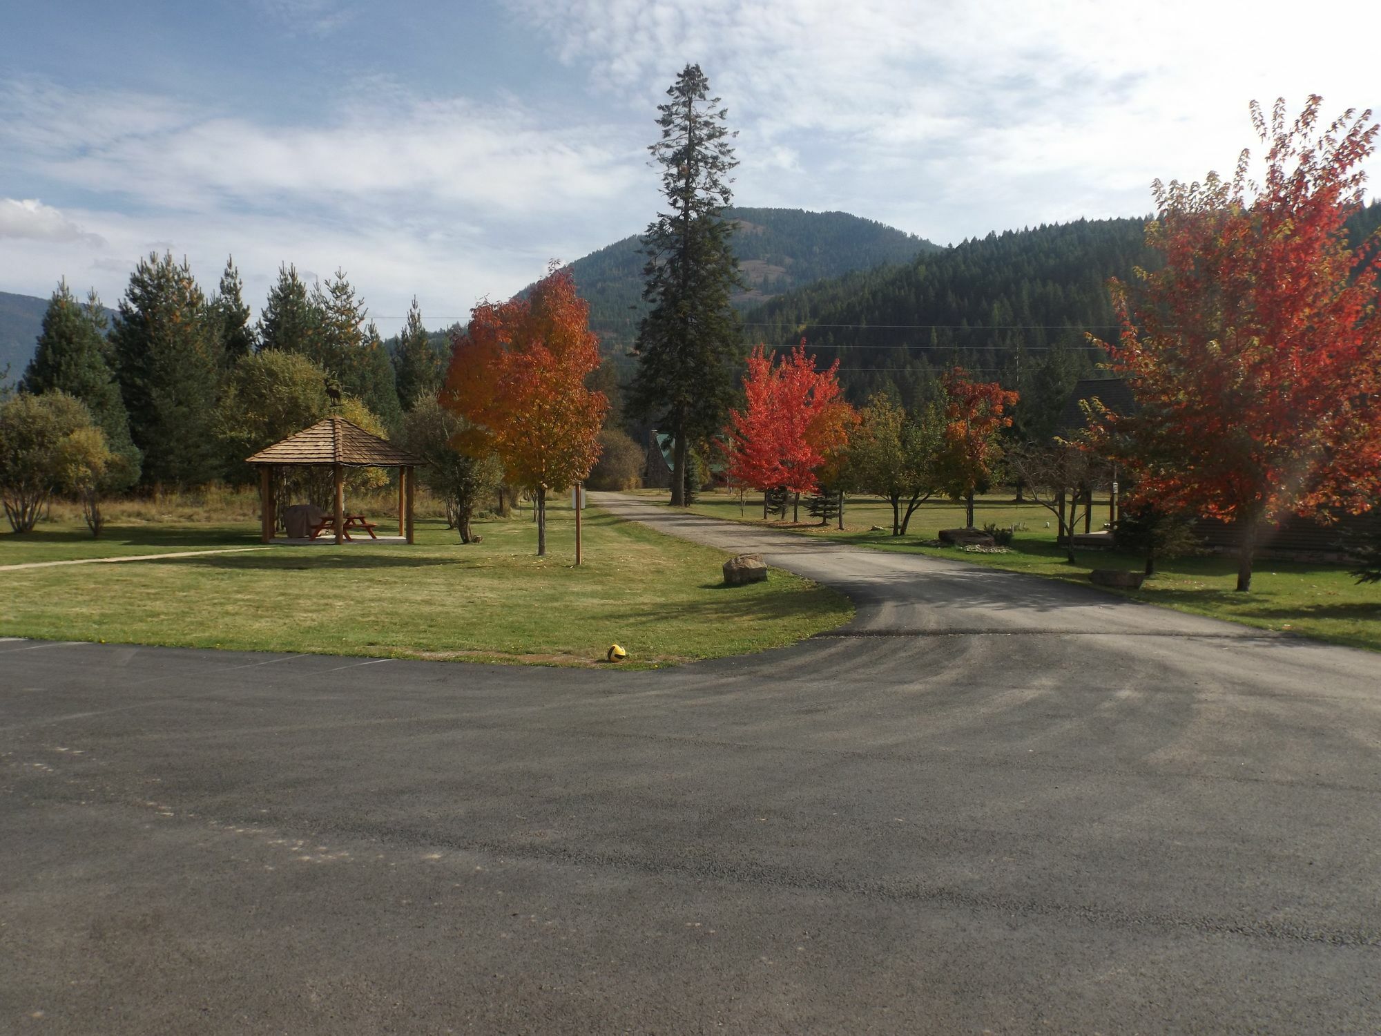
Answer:
[[(551, 554), (530, 519), (476, 524), (461, 546), (421, 521), (417, 543), (272, 547), (0, 573), (0, 635), (337, 655), (594, 663), (617, 641), (632, 666), (764, 651), (852, 616), (840, 594), (773, 570), (721, 587), (728, 557), (598, 510), (574, 568), (573, 515), (552, 508)], [(84, 532), (84, 530), (83, 530)], [(0, 565), (257, 544), (257, 524), (72, 525), (0, 536)]]

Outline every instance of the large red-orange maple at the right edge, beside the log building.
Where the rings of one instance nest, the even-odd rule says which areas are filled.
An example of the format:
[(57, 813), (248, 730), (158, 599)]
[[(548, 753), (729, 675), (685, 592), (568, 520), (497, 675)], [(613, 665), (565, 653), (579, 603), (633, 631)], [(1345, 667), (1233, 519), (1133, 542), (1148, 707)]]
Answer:
[(1259, 185), (1247, 152), (1232, 181), (1156, 181), (1146, 240), (1164, 265), (1135, 297), (1112, 283), (1121, 334), (1103, 347), (1139, 409), (1095, 416), (1094, 445), (1139, 499), (1237, 528), (1239, 591), (1262, 529), (1381, 492), (1381, 239), (1352, 247), (1344, 229), (1377, 126), (1349, 111), (1324, 128), (1319, 106), (1287, 123), (1277, 101), (1268, 124), (1251, 105)]

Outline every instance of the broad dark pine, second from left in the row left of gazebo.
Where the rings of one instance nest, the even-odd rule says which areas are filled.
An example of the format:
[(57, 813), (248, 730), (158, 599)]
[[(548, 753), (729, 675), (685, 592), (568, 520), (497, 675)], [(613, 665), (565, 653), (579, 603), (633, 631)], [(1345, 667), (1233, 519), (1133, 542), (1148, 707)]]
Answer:
[(186, 486), (215, 478), (220, 340), (186, 260), (177, 264), (171, 253), (139, 260), (110, 343), (144, 479)]

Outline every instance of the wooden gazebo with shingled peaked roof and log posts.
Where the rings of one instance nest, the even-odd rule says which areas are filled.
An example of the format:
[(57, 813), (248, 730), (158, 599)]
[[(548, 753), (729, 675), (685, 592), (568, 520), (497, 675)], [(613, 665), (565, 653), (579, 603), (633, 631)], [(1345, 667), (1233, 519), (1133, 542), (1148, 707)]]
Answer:
[(273, 539), (273, 470), (331, 468), (336, 479), (336, 541), (345, 536), (345, 468), (398, 468), (398, 535), (413, 541), (413, 470), (427, 461), (398, 449), (344, 417), (323, 417), (311, 428), (246, 457), (260, 470), (260, 518), (264, 543)]

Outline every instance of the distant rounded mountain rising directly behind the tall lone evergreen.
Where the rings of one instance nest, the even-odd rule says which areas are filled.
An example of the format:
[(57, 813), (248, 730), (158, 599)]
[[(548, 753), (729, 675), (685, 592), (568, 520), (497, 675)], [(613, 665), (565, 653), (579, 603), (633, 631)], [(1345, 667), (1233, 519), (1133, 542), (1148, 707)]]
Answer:
[[(940, 246), (895, 227), (848, 213), (801, 209), (728, 209), (737, 222), (733, 250), (743, 274), (735, 298), (750, 308), (820, 278), (884, 262), (906, 262)], [(642, 319), (642, 265), (638, 238), (624, 238), (570, 264), (576, 287), (590, 303), (590, 327), (606, 352), (632, 345)]]

